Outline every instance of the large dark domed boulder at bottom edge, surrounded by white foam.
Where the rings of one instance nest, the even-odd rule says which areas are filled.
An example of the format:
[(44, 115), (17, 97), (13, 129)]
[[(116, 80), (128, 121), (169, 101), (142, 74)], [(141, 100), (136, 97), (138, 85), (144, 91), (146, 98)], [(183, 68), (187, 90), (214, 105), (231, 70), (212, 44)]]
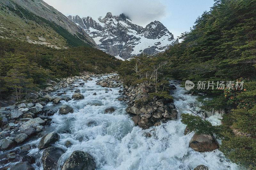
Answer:
[(64, 163), (61, 170), (94, 170), (95, 161), (89, 153), (83, 151), (74, 151), (68, 160)]

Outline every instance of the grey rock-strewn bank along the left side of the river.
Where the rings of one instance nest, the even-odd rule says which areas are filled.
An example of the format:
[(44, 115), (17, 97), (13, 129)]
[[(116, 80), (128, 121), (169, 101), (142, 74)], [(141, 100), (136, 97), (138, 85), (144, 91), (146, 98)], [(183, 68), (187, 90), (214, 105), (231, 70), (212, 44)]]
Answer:
[[(81, 95), (79, 89), (76, 89), (78, 86), (83, 86), (84, 82), (92, 80), (91, 77), (101, 77), (106, 74), (91, 74), (83, 76), (74, 76), (60, 80), (60, 82), (48, 80), (46, 81), (46, 88), (38, 92), (33, 92), (28, 94), (30, 100), (23, 100), (19, 103), (15, 102), (13, 97), (11, 103), (8, 105), (5, 103), (5, 107), (0, 108), (0, 150), (4, 151), (0, 155), (0, 165), (4, 166), (7, 163), (17, 162), (21, 159), (21, 162), (11, 169), (34, 169), (30, 164), (35, 163), (34, 161), (27, 161), (27, 157), (34, 159), (32, 155), (27, 155), (30, 149), (38, 147), (39, 149), (48, 148), (53, 143), (59, 140), (59, 135), (56, 132), (51, 132), (46, 134), (39, 145), (24, 145), (32, 137), (41, 138), (41, 132), (51, 124), (51, 117), (56, 113), (55, 110), (47, 110), (44, 106), (47, 103), (58, 104), (61, 100), (69, 101), (71, 98), (60, 98), (64, 93), (58, 93), (58, 90), (61, 88), (69, 88), (74, 92), (72, 99), (81, 100), (84, 98)], [(74, 84), (74, 82), (83, 80), (84, 82), (79, 83), (79, 85)], [(120, 87), (121, 84), (118, 84)], [(53, 94), (54, 93), (54, 94)], [(10, 97), (9, 97), (10, 98)], [(10, 103), (10, 102), (9, 102)], [(72, 113), (73, 108), (68, 105), (62, 105), (60, 107), (60, 114)], [(20, 146), (19, 145), (23, 145)], [(17, 147), (18, 146), (18, 147)], [(16, 147), (16, 148), (15, 148)], [(15, 148), (13, 150), (13, 148)], [(8, 151), (10, 150), (10, 151)], [(26, 157), (26, 158), (25, 158)], [(44, 167), (52, 167), (52, 162), (47, 159), (44, 160)], [(49, 158), (51, 159), (51, 158)], [(24, 161), (23, 161), (24, 160)], [(30, 160), (30, 159), (29, 159)], [(58, 160), (57, 160), (58, 161)], [(57, 162), (56, 162), (57, 163)], [(4, 167), (8, 169), (10, 166)], [(47, 169), (47, 168), (46, 168)]]

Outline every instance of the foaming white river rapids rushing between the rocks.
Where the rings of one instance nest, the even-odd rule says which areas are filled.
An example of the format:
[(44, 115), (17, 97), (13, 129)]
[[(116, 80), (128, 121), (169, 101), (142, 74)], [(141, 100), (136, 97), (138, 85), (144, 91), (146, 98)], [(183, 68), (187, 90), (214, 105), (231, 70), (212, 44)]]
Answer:
[[(198, 165), (208, 166), (212, 170), (239, 169), (224, 157), (222, 152), (200, 153), (192, 150), (189, 141), (193, 133), (184, 135), (186, 125), (180, 122), (180, 114), (199, 110), (200, 103), (196, 96), (185, 95), (186, 90), (180, 87), (178, 82), (171, 83), (176, 86), (172, 91), (174, 105), (178, 109), (178, 120), (169, 121), (157, 127), (142, 130), (134, 126), (131, 117), (126, 113), (127, 105), (118, 101), (119, 88), (103, 88), (96, 85), (98, 78), (85, 82), (84, 86), (78, 86), (84, 95), (83, 100), (61, 101), (60, 104), (48, 103), (46, 109), (58, 110), (62, 104), (67, 104), (74, 109), (74, 113), (60, 115), (54, 114), (52, 124), (44, 130), (44, 134), (56, 131), (60, 140), (54, 146), (63, 148), (66, 152), (60, 157), (58, 167), (73, 151), (81, 150), (90, 153), (95, 159), (97, 169), (104, 170), (193, 170)], [(80, 80), (76, 84), (84, 82)], [(71, 97), (74, 92), (69, 88), (59, 89), (66, 92), (61, 97)], [(106, 93), (107, 92), (107, 93)], [(96, 93), (97, 95), (92, 95)], [(104, 114), (104, 110), (114, 107), (111, 114)], [(220, 124), (219, 115), (208, 118), (213, 124)], [(151, 133), (151, 137), (145, 135)], [(30, 141), (31, 145), (37, 145), (41, 138)], [(65, 142), (73, 145), (65, 147)], [(220, 142), (220, 141), (219, 141)], [(25, 145), (27, 145), (26, 143)], [(37, 148), (30, 150), (29, 154), (36, 155), (36, 169), (43, 170), (41, 164), (42, 150)]]

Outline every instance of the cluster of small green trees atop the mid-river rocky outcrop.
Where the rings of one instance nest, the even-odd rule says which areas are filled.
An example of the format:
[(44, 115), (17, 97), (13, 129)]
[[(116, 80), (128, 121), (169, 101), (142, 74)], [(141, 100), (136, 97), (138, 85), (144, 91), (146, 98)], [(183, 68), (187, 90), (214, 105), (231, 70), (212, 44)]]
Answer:
[(168, 81), (168, 59), (162, 54), (156, 56), (139, 55), (126, 60), (119, 68), (119, 75), (124, 79), (124, 85), (135, 86), (146, 83), (152, 87), (149, 96), (172, 99), (168, 94), (170, 83)]

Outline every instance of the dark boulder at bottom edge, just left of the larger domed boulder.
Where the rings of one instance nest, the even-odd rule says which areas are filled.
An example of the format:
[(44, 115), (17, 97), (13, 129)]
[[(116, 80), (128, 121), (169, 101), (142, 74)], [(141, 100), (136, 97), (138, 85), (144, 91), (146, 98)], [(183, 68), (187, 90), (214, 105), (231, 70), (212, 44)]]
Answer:
[(65, 153), (65, 151), (58, 147), (48, 147), (44, 149), (42, 156), (44, 170), (56, 169), (58, 160), (63, 153)]

